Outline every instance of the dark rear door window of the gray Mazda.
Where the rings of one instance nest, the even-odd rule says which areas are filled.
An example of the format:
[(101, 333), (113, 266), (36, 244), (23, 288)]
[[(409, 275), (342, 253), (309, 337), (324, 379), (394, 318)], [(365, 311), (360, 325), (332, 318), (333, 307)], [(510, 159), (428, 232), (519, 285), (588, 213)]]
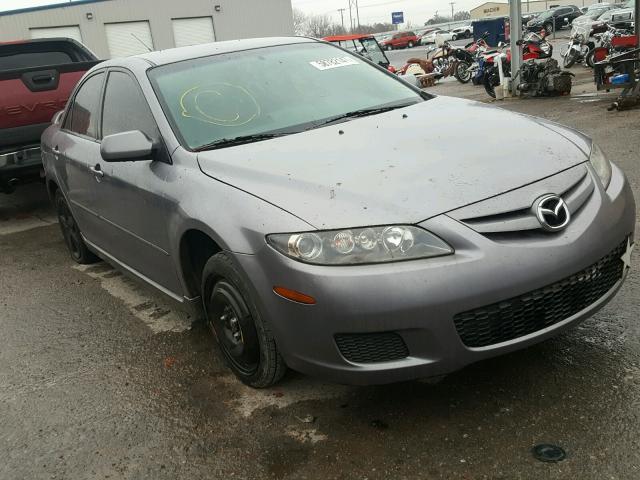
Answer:
[(82, 84), (73, 100), (64, 128), (80, 135), (97, 138), (98, 110), (103, 80), (104, 73), (99, 73)]

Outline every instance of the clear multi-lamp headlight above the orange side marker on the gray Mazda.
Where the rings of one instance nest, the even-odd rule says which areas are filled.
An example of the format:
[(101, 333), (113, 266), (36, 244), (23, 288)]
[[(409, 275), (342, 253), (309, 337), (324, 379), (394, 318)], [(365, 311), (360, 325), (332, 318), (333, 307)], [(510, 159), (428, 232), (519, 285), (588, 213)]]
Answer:
[(280, 253), (316, 265), (396, 262), (453, 253), (434, 234), (405, 225), (282, 233), (268, 235), (267, 242)]

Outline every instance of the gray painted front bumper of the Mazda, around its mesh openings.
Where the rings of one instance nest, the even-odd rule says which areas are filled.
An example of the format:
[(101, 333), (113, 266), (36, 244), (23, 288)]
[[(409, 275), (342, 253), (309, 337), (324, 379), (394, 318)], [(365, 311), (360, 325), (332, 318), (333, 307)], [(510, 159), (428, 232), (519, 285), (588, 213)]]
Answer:
[[(463, 343), (454, 317), (566, 279), (608, 255), (635, 226), (635, 203), (624, 174), (613, 167), (611, 184), (599, 182), (570, 225), (557, 234), (491, 239), (447, 215), (421, 225), (445, 238), (447, 257), (383, 265), (327, 267), (291, 260), (266, 246), (237, 255), (262, 315), (293, 369), (328, 380), (375, 384), (442, 375), (488, 357), (549, 338), (589, 317), (620, 288), (568, 318), (508, 341), (482, 347)], [(315, 305), (276, 296), (274, 286), (312, 295)], [(358, 363), (343, 356), (336, 335), (394, 332), (405, 358)]]

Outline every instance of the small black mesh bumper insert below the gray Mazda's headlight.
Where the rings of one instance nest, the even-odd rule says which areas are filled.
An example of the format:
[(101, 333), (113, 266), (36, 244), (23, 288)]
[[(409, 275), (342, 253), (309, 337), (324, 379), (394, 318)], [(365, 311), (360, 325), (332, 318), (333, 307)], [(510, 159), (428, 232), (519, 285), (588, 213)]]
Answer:
[(394, 332), (340, 333), (335, 339), (342, 356), (354, 363), (389, 362), (409, 356), (404, 340)]

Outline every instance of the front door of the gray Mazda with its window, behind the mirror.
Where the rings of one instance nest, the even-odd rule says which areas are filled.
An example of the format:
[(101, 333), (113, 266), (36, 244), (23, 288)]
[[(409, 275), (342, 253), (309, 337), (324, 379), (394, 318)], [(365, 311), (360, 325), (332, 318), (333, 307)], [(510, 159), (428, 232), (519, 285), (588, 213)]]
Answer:
[(165, 179), (171, 177), (173, 166), (142, 90), (125, 70), (109, 72), (101, 130), (103, 138), (139, 130), (158, 145), (158, 153), (153, 159), (135, 162), (92, 157), (95, 163), (89, 167), (96, 182), (89, 208), (100, 222), (92, 242), (166, 293), (180, 297), (182, 287), (168, 234), (170, 213), (176, 206), (165, 196)]

